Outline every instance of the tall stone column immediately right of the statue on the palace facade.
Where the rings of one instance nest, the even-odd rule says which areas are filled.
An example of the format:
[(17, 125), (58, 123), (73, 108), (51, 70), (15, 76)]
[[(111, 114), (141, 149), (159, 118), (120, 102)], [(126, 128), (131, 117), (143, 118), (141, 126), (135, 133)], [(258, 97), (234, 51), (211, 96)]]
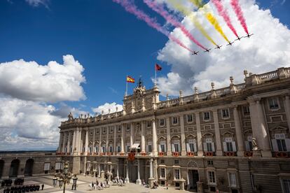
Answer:
[(256, 107), (257, 107), (257, 115), (258, 115), (258, 130), (259, 133), (261, 134), (261, 139), (262, 139), (262, 156), (263, 157), (272, 157), (272, 152), (270, 148), (270, 141), (269, 141), (269, 136), (267, 133), (267, 125), (265, 122), (265, 117), (263, 113), (263, 106), (259, 100), (256, 101)]

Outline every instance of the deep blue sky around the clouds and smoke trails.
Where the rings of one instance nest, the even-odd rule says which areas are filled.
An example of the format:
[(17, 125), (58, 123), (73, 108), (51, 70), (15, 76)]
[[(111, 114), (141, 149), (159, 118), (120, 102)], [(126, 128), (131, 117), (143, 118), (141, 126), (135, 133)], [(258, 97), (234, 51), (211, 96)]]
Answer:
[[(50, 61), (62, 64), (63, 55), (73, 55), (85, 69), (85, 83), (81, 81), (81, 87), (86, 99), (40, 100), (37, 105), (52, 105), (55, 109), (69, 106), (80, 112), (92, 112), (91, 108), (106, 102), (122, 104), (125, 76), (130, 75), (136, 79), (142, 76), (144, 85), (152, 87), (153, 65), (156, 62), (163, 66), (158, 76), (165, 77), (166, 83), (174, 71), (181, 76), (182, 70), (174, 66), (181, 60), (165, 58), (167, 37), (137, 20), (117, 3), (111, 0), (43, 2), (37, 5), (29, 4), (28, 0), (0, 1), (0, 65), (18, 59), (34, 61), (43, 66)], [(289, 26), (289, 0), (259, 0), (257, 3), (261, 10), (270, 9), (273, 17)], [(149, 10), (144, 3), (137, 0), (137, 4), (161, 24), (165, 24), (165, 20)], [(170, 27), (170, 30), (173, 28)], [(163, 82), (160, 79), (160, 85)], [(129, 85), (130, 92), (133, 87)], [(167, 89), (170, 90), (170, 87)], [(13, 136), (18, 136), (16, 130), (12, 131)]]

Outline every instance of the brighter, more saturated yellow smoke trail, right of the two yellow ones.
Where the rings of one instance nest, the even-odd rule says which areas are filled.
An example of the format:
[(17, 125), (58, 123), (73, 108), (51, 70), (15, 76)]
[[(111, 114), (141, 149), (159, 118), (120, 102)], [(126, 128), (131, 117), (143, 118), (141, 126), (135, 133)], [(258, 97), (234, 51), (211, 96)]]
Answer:
[(193, 3), (193, 5), (195, 5), (197, 8), (200, 8), (202, 10), (204, 12), (205, 17), (209, 21), (209, 23), (211, 23), (214, 26), (214, 29), (216, 29), (216, 31), (218, 31), (219, 34), (221, 34), (221, 36), (223, 36), (223, 38), (227, 42), (229, 42), (228, 38), (226, 37), (226, 34), (223, 33), (223, 29), (221, 29), (221, 26), (219, 25), (218, 20), (216, 20), (216, 17), (214, 17), (214, 15), (210, 13), (207, 5), (203, 6), (202, 0), (188, 0), (188, 1), (190, 1), (191, 3)]

